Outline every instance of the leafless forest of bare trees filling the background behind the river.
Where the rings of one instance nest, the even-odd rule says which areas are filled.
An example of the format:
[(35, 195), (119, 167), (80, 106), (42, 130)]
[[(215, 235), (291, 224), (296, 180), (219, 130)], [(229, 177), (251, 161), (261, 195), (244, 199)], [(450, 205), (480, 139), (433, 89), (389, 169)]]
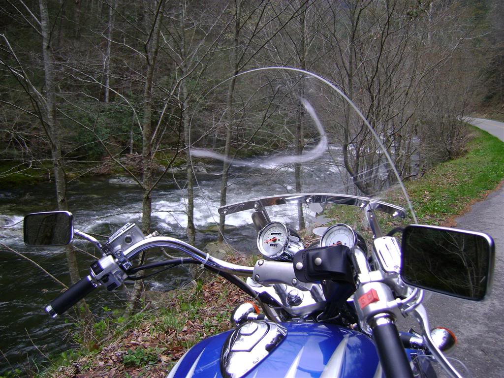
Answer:
[[(302, 84), (311, 83), (300, 80), (305, 75), (261, 73), (254, 83), (261, 90), (236, 77), (266, 67), (332, 83), (374, 126), (401, 178), (414, 179), (460, 156), (468, 140), (464, 117), (504, 117), (504, 6), (501, 0), (5, 0), (0, 189), (50, 181), (54, 210), (69, 210), (71, 183), (127, 177), (141, 193), (136, 210), (149, 234), (153, 194), (176, 171), (186, 197), (185, 234), (194, 244), (198, 167), (190, 149), (206, 143), (225, 157), (219, 200), (227, 204), (227, 158), (302, 154), (320, 142), (299, 98), (340, 110), (319, 115), (329, 143), (342, 146), (337, 169), (354, 184), (351, 194), (372, 195), (394, 182), (392, 172), (381, 170), (383, 151), (349, 105)], [(278, 88), (298, 96), (285, 101), (287, 92)], [(281, 109), (279, 95), (288, 103)], [(300, 193), (308, 168), (292, 165), (288, 190)], [(224, 217), (218, 222), (222, 230)], [(76, 282), (75, 250), (65, 254)]]

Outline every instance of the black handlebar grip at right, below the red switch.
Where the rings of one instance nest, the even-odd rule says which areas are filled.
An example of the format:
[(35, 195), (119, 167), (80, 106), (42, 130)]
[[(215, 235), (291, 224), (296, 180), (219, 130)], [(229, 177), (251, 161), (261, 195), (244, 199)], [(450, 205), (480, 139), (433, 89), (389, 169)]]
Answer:
[(403, 342), (397, 332), (397, 327), (390, 318), (380, 318), (371, 321), (373, 340), (380, 357), (383, 372), (389, 377), (410, 377), (413, 372), (404, 350)]

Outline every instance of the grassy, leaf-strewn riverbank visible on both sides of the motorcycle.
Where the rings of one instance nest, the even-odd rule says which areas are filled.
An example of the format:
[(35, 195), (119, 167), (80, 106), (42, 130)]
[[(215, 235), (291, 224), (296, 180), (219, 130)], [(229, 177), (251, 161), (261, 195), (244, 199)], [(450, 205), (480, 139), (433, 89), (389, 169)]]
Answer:
[[(477, 129), (472, 135), (464, 156), (406, 183), (420, 223), (450, 223), (504, 179), (504, 143)], [(202, 278), (192, 287), (146, 298), (130, 318), (108, 311), (93, 325), (91, 341), (75, 334), (80, 348), (57, 356), (44, 372), (42, 366), (27, 366), (4, 376), (165, 376), (186, 348), (228, 329), (232, 308), (246, 299), (218, 278)]]

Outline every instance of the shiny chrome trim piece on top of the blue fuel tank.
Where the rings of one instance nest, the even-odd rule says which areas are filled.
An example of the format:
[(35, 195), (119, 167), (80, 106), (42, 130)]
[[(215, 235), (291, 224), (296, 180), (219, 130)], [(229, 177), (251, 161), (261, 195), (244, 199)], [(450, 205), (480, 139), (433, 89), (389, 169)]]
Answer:
[(284, 339), (287, 329), (270, 321), (245, 323), (224, 342), (220, 368), (224, 378), (240, 378), (263, 361)]

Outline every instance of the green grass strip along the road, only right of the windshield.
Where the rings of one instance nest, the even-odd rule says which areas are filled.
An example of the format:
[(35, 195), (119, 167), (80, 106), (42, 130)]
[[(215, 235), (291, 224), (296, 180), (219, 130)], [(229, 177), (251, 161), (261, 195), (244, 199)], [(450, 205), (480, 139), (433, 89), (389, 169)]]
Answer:
[(467, 154), (439, 164), (406, 184), (420, 223), (443, 223), (504, 179), (504, 143), (472, 129), (475, 138), (468, 144)]

